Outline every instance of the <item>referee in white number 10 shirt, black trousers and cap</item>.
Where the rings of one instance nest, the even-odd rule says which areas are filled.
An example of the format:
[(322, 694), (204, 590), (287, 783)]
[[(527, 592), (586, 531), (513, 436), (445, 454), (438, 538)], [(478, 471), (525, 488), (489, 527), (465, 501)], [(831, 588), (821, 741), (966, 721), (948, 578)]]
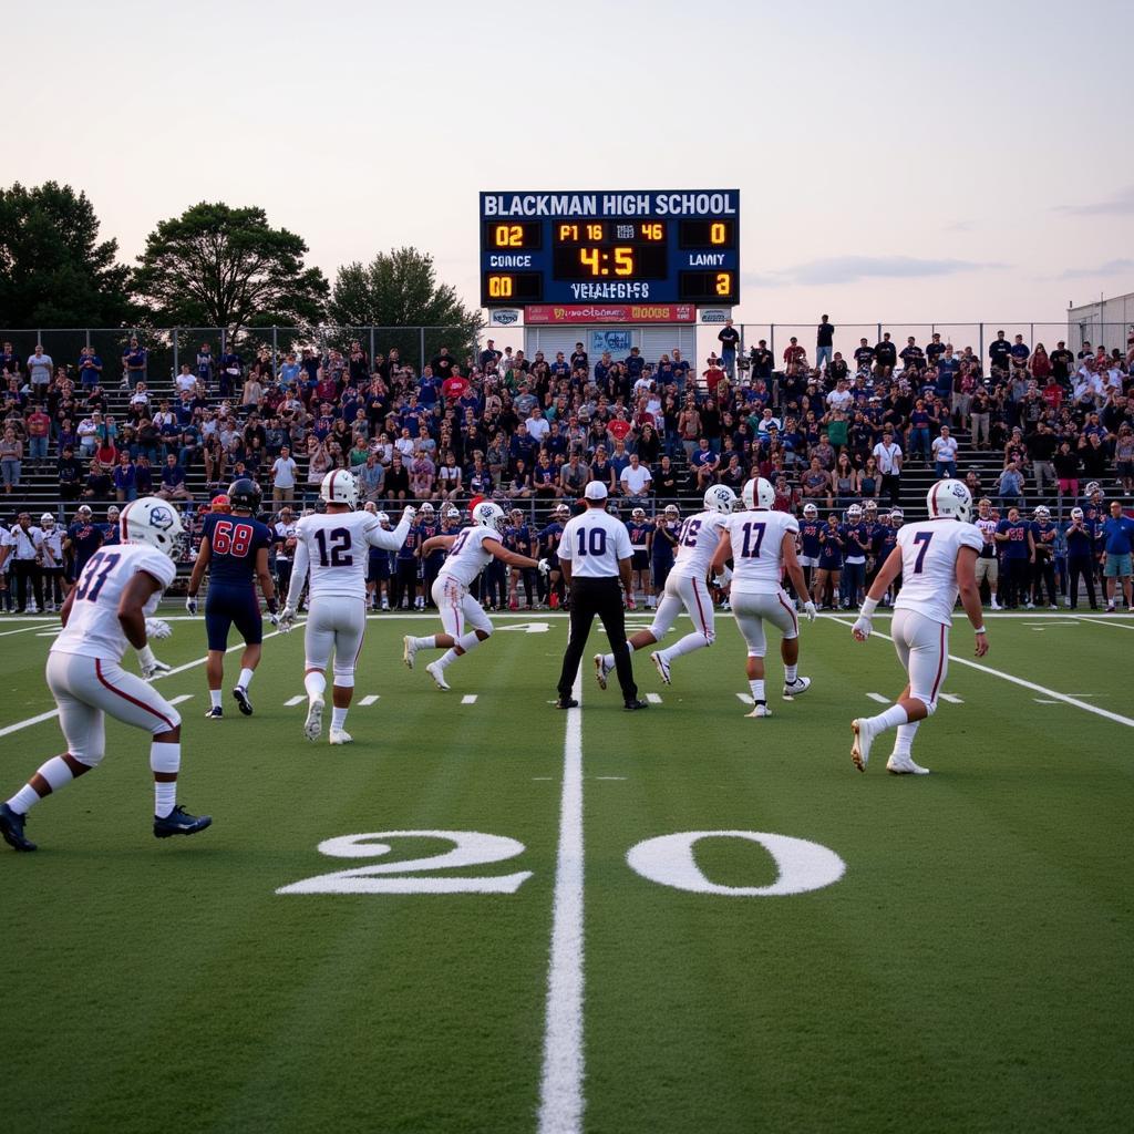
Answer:
[(626, 623), (623, 618), (623, 594), (632, 595), (629, 533), (626, 525), (607, 511), (607, 489), (602, 481), (591, 481), (584, 492), (586, 511), (567, 521), (559, 540), (559, 565), (564, 581), (570, 587), (570, 641), (564, 654), (559, 675), (558, 709), (574, 709), (578, 702), (570, 695), (578, 674), (591, 623), (598, 615), (610, 638), (618, 684), (623, 688), (623, 708), (627, 712), (648, 709), (640, 701), (631, 652), (626, 646)]

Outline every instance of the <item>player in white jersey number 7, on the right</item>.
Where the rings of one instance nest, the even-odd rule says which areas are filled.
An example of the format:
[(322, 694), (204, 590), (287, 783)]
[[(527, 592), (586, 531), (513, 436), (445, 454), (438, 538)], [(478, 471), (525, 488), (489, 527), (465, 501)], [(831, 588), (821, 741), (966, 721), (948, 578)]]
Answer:
[(878, 600), (900, 573), (902, 590), (894, 602), (890, 634), (909, 683), (885, 712), (850, 722), (850, 759), (861, 772), (866, 770), (871, 745), (889, 728), (896, 728), (898, 735), (887, 770), (899, 776), (929, 772), (914, 763), (911, 746), (919, 723), (937, 709), (949, 666), (949, 626), (958, 593), (976, 634), (976, 657), (984, 657), (989, 649), (976, 586), (976, 557), (984, 539), (970, 523), (972, 494), (963, 481), (938, 481), (925, 502), (929, 519), (898, 531), (897, 547), (871, 584), (852, 628), (856, 642), (870, 637)]

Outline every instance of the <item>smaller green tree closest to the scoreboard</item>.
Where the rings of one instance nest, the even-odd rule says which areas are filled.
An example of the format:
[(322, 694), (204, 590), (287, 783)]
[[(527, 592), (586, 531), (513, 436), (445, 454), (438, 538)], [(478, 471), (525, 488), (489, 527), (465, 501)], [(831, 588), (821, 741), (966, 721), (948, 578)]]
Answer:
[(481, 329), (480, 311), (457, 298), (456, 288), (439, 284), (433, 257), (417, 248), (380, 252), (369, 264), (338, 270), (329, 305), (331, 319), (347, 327), (443, 327), (448, 335), (429, 336), (426, 353), (442, 341), (456, 353), (468, 348)]

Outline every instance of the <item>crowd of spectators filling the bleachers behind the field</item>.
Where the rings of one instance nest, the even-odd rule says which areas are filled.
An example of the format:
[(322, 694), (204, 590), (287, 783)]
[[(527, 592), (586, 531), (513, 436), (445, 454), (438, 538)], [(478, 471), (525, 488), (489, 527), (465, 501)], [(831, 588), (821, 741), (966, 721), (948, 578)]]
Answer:
[[(358, 341), (251, 358), (204, 342), (159, 391), (136, 339), (110, 373), (91, 348), (64, 363), (5, 344), (0, 473), (11, 493), (28, 464), (53, 467), (62, 499), (95, 501), (191, 500), (200, 476), (188, 473), (206, 493), (249, 475), (277, 506), (310, 501), (336, 467), (355, 472), (364, 500), (391, 506), (553, 503), (591, 480), (636, 503), (762, 475), (789, 507), (835, 508), (897, 503), (912, 464), (957, 475), (960, 434), (1004, 456), (996, 484), (968, 472), (974, 496), (1074, 497), (1081, 479), (1116, 476), (1134, 491), (1134, 333), (1124, 353), (1049, 352), (1001, 332), (985, 358), (939, 335), (899, 346), (885, 333), (847, 358), (833, 331), (824, 315), (813, 364), (796, 338), (779, 358), (763, 340), (741, 350), (729, 322), (703, 369), (676, 349), (591, 357), (577, 344), (527, 358), (490, 339), (463, 357), (442, 347), (418, 373)], [(108, 383), (125, 412), (110, 412)]]

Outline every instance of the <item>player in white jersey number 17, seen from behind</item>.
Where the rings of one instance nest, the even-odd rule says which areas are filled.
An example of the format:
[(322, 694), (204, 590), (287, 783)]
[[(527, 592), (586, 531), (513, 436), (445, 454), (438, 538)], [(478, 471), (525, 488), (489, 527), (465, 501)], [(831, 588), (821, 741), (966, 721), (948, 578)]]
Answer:
[[(799, 621), (795, 606), (782, 586), (787, 570), (797, 594), (806, 594), (803, 568), (795, 542), (799, 523), (786, 511), (773, 511), (776, 488), (760, 476), (744, 485), (742, 499), (746, 511), (725, 518), (720, 543), (712, 557), (712, 569), (720, 570), (726, 559), (733, 560), (733, 613), (748, 646), (747, 675), (753, 709), (750, 717), (770, 717), (764, 695), (764, 619), (782, 635), (780, 657), (784, 659), (784, 696), (806, 693), (810, 677), (799, 677)], [(803, 604), (810, 621), (815, 618), (815, 604)]]

